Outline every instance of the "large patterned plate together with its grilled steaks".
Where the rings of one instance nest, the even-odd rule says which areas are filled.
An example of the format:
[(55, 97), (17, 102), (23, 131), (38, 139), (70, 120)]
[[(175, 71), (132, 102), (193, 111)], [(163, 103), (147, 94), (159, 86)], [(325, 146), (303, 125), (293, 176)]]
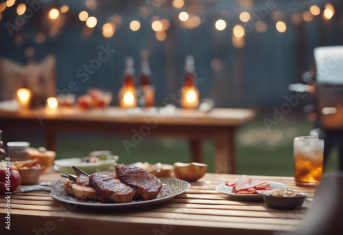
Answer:
[(69, 175), (51, 183), (53, 199), (91, 208), (127, 208), (173, 199), (191, 186), (176, 178), (158, 179), (143, 168), (130, 165), (115, 166), (115, 175), (75, 172), (77, 177)]

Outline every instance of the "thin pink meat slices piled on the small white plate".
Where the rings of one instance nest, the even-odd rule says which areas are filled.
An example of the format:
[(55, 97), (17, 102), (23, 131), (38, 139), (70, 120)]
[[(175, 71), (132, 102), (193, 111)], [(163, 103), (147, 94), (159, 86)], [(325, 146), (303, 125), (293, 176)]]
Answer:
[(257, 194), (257, 190), (272, 190), (269, 183), (260, 179), (251, 179), (246, 175), (242, 175), (239, 179), (227, 181), (226, 186), (233, 188), (232, 192), (239, 194)]

